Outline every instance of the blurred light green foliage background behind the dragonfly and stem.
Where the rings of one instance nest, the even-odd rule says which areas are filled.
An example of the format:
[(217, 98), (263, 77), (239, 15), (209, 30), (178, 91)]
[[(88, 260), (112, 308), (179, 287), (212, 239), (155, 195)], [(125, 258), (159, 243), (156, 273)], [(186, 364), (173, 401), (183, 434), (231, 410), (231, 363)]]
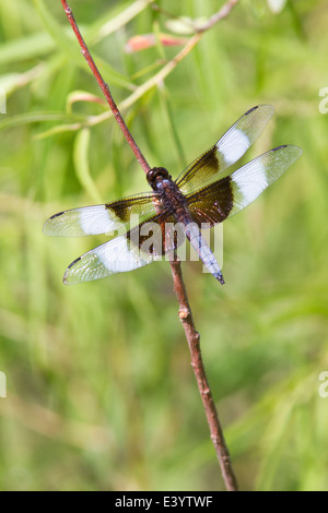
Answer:
[[(191, 19), (223, 3), (157, 2)], [(70, 4), (117, 103), (180, 49), (125, 51), (132, 36), (169, 33), (165, 12)], [(327, 24), (325, 0), (280, 13), (241, 2), (124, 112), (149, 163), (174, 177), (261, 103), (276, 114), (247, 159), (279, 144), (304, 150), (224, 224), (224, 287), (199, 263), (183, 267), (244, 490), (328, 489)], [(0, 38), (0, 489), (224, 489), (169, 265), (66, 287), (66, 266), (106, 239), (43, 235), (56, 212), (148, 188), (114, 120), (94, 118), (107, 107), (74, 102), (77, 91), (101, 93), (61, 2), (1, 1)]]

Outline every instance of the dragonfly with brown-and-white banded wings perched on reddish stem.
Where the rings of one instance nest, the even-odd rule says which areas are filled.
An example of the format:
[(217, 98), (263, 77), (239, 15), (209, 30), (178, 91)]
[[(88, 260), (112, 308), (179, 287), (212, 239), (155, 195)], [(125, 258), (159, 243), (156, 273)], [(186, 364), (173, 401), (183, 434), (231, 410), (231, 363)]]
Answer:
[[(219, 263), (201, 235), (202, 225), (212, 227), (249, 205), (301, 156), (302, 148), (278, 146), (219, 180), (213, 178), (239, 160), (272, 115), (270, 105), (247, 110), (175, 181), (165, 168), (152, 168), (147, 175), (152, 192), (52, 215), (44, 225), (46, 235), (79, 237), (106, 234), (118, 226), (126, 229), (125, 234), (74, 260), (65, 273), (63, 283), (77, 284), (132, 271), (161, 260), (164, 254), (175, 258), (181, 239), (175, 229), (166, 232), (166, 226), (178, 223), (183, 239), (187, 237), (211, 274), (224, 284)], [(138, 222), (132, 226), (130, 220), (136, 216)], [(144, 228), (149, 224), (153, 230), (159, 228), (160, 243), (145, 243), (149, 232), (144, 235)]]

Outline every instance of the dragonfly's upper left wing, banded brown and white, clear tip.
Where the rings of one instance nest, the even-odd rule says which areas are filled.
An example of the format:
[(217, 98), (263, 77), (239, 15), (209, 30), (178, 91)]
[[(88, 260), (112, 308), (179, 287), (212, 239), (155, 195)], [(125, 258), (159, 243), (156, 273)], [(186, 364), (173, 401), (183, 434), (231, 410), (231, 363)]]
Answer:
[(44, 234), (51, 236), (81, 237), (99, 235), (129, 226), (132, 216), (134, 224), (140, 217), (155, 213), (153, 200), (156, 193), (145, 192), (104, 205), (84, 206), (59, 212), (44, 225)]

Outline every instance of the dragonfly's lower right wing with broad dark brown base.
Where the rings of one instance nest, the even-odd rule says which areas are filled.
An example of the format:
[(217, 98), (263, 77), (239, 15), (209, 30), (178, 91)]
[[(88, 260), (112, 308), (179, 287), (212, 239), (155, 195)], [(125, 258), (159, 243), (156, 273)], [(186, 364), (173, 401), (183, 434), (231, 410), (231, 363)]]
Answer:
[(200, 226), (222, 223), (247, 205), (273, 183), (302, 155), (293, 145), (278, 146), (250, 163), (187, 196), (189, 212)]

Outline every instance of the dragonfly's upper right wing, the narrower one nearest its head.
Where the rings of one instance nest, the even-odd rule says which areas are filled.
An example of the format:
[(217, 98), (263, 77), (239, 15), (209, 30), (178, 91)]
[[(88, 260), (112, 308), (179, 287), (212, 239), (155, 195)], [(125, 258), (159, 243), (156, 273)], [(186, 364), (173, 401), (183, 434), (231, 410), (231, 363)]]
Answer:
[(194, 160), (177, 178), (186, 194), (235, 164), (258, 139), (273, 115), (271, 105), (245, 112), (210, 150)]

